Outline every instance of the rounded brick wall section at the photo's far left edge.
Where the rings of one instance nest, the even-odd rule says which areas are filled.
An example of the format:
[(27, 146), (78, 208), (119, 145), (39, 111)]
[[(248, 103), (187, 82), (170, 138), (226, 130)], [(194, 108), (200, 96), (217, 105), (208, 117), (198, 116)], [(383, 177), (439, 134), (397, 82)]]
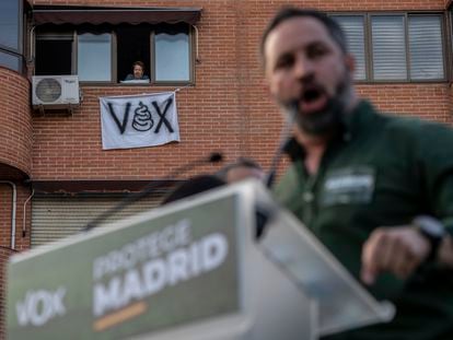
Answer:
[[(30, 189), (21, 180), (32, 173), (33, 128), (28, 81), (16, 72), (0, 67), (0, 339), (4, 339), (5, 265), (12, 253), (30, 248), (30, 204), (25, 208), (25, 220), (23, 208)], [(11, 184), (16, 189), (15, 250), (11, 249)], [(27, 224), (26, 221), (28, 233), (23, 236), (22, 228)]]

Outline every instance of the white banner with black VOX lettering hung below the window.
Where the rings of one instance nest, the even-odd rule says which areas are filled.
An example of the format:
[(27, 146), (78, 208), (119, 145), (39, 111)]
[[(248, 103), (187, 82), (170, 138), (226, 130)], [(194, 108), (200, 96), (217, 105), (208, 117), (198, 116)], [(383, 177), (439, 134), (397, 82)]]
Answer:
[(103, 150), (179, 141), (174, 92), (100, 97), (100, 102)]

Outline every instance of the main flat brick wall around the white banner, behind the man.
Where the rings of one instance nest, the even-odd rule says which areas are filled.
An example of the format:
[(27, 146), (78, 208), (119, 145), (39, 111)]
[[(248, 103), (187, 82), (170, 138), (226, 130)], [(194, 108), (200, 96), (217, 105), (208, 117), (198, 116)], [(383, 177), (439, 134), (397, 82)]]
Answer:
[[(35, 4), (98, 4), (100, 1), (36, 0)], [(158, 179), (176, 165), (222, 150), (229, 160), (249, 155), (265, 167), (276, 145), (281, 117), (267, 94), (258, 44), (268, 19), (297, 3), (326, 11), (442, 10), (444, 0), (402, 1), (155, 1), (152, 5), (202, 7), (197, 27), (196, 85), (177, 93), (181, 143), (135, 150), (101, 150), (98, 97), (175, 87), (83, 86), (84, 102), (70, 116), (34, 117), (33, 175), (36, 179)], [(147, 5), (147, 1), (102, 4)], [(253, 19), (253, 20), (251, 20)], [(360, 85), (360, 95), (380, 108), (450, 124), (445, 83)], [(397, 95), (395, 95), (395, 93)], [(207, 166), (194, 171), (210, 172)]]

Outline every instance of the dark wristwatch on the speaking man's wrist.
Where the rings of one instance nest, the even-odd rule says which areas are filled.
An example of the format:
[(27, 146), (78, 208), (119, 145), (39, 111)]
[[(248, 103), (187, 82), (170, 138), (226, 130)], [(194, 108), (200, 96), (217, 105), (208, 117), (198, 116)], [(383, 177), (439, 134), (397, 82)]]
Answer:
[(426, 261), (434, 261), (438, 257), (439, 247), (442, 238), (445, 235), (444, 225), (437, 219), (428, 215), (419, 215), (413, 220), (413, 225), (417, 227), (418, 232), (428, 239), (431, 245), (431, 250)]

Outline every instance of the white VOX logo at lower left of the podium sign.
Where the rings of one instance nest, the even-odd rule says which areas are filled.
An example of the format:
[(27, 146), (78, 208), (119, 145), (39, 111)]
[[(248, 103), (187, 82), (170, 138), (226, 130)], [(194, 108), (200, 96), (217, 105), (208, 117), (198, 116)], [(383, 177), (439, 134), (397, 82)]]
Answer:
[(63, 297), (66, 288), (56, 291), (27, 291), (25, 298), (15, 304), (20, 326), (43, 326), (56, 316), (66, 313)]

